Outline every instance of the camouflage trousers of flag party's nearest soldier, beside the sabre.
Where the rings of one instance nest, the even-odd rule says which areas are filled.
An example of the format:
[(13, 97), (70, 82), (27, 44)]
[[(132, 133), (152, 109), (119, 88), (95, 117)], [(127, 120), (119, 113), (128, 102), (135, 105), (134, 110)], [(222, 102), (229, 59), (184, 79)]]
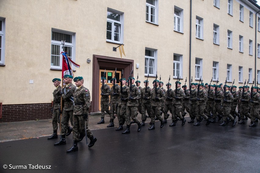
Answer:
[[(73, 115), (73, 139), (79, 140), (81, 133), (85, 133), (85, 118), (84, 115)], [(88, 128), (88, 118), (86, 121), (87, 137), (90, 138), (92, 135), (91, 130)]]

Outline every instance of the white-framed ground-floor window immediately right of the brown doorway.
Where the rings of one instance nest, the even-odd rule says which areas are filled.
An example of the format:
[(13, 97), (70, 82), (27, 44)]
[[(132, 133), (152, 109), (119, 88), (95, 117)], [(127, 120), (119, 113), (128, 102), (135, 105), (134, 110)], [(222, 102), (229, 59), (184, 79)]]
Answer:
[(145, 76), (155, 76), (157, 71), (157, 50), (145, 48)]

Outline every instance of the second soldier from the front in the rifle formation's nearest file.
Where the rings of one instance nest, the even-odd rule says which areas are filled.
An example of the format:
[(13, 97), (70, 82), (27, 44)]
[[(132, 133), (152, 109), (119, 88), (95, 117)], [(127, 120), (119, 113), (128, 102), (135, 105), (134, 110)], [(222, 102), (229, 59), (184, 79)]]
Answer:
[(149, 128), (149, 130), (155, 129), (154, 123), (155, 123), (155, 116), (160, 120), (162, 128), (164, 126), (164, 121), (160, 115), (161, 110), (161, 100), (165, 98), (165, 92), (159, 87), (159, 80), (154, 80), (155, 88), (153, 88), (151, 94), (152, 94), (152, 102), (151, 102), (151, 122), (152, 126)]

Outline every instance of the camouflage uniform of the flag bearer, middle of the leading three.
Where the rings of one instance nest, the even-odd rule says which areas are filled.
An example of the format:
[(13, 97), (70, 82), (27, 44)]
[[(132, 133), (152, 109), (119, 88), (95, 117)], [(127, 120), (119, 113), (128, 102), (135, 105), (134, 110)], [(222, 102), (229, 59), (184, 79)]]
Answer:
[(73, 126), (72, 116), (74, 101), (71, 101), (70, 99), (73, 99), (73, 94), (75, 90), (76, 87), (72, 83), (68, 84), (63, 88), (64, 93), (61, 96), (64, 100), (64, 107), (61, 117), (61, 135), (64, 135), (67, 132), (67, 129), (69, 128), (69, 119), (71, 125)]

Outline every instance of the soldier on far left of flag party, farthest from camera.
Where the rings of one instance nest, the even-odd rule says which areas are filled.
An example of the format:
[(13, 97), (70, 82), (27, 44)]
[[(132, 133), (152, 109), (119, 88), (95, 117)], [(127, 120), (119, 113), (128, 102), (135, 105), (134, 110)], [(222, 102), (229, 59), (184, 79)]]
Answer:
[(53, 134), (48, 138), (49, 139), (57, 139), (57, 130), (58, 130), (58, 123), (60, 123), (60, 82), (61, 80), (58, 78), (52, 79), (53, 85), (56, 89), (53, 91), (53, 106), (51, 109), (52, 113), (52, 127), (53, 127)]

